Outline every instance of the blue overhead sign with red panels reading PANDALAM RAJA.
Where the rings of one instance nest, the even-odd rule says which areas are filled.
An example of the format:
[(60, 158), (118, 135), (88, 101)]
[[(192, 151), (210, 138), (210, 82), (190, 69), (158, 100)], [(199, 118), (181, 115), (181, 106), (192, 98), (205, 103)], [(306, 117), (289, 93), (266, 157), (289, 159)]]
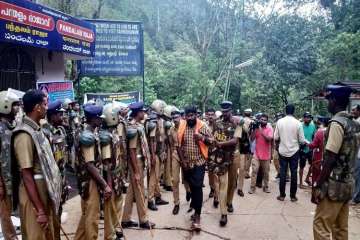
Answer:
[(0, 0), (0, 41), (94, 56), (95, 26), (24, 0)]

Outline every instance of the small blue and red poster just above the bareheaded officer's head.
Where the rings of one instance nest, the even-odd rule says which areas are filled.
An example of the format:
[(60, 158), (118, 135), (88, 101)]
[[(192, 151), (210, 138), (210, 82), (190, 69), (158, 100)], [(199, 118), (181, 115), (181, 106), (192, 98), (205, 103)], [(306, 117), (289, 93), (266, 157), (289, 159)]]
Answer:
[(64, 101), (65, 98), (75, 99), (72, 81), (37, 82), (36, 88), (43, 91), (51, 102), (55, 100)]

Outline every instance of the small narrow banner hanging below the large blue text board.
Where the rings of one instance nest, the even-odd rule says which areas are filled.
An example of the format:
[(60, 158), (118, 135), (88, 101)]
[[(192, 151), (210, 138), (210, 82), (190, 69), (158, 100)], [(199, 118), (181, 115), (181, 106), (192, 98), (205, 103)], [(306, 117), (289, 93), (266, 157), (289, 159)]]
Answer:
[(113, 101), (125, 103), (127, 105), (138, 102), (140, 92), (124, 92), (124, 93), (86, 93), (84, 96), (84, 104), (88, 101), (95, 101), (97, 104), (104, 105)]

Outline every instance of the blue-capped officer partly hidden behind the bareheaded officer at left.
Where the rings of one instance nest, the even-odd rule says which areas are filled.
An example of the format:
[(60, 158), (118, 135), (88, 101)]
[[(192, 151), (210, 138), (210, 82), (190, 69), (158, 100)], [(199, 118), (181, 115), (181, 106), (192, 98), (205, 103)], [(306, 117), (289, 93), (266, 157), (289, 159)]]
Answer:
[(63, 127), (63, 115), (65, 110), (62, 108), (60, 100), (50, 102), (47, 110), (47, 124), (42, 126), (45, 136), (48, 138), (54, 154), (54, 159), (59, 167), (63, 191), (61, 195), (61, 205), (59, 209), (59, 218), (55, 220), (55, 234), (56, 239), (60, 239), (60, 222), (62, 214), (62, 205), (68, 198), (69, 187), (65, 178), (65, 164), (66, 158), (66, 130)]

